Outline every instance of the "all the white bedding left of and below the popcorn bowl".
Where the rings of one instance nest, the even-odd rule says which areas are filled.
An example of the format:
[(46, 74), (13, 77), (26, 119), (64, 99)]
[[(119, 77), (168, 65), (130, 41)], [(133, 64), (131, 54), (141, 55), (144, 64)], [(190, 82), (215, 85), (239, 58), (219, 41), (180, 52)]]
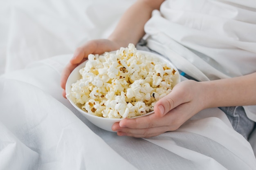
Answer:
[(61, 96), (60, 73), (75, 47), (107, 37), (132, 2), (2, 3), (0, 170), (256, 169), (256, 135), (250, 145), (218, 108), (136, 139), (94, 126)]

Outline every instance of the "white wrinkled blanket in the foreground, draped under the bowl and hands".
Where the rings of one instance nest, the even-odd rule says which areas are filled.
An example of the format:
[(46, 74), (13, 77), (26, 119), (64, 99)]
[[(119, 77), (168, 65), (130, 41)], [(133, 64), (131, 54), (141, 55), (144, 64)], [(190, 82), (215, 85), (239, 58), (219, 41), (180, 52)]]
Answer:
[(61, 96), (60, 74), (71, 57), (51, 57), (0, 77), (0, 170), (255, 169), (252, 146), (219, 108), (148, 139), (94, 126)]

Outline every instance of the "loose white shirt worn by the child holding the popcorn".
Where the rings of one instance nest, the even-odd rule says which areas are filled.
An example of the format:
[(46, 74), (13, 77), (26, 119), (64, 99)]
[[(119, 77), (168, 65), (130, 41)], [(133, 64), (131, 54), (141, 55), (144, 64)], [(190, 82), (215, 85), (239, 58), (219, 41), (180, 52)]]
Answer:
[[(166, 0), (145, 31), (150, 49), (200, 81), (256, 72), (255, 0)], [(256, 121), (256, 106), (245, 110)]]

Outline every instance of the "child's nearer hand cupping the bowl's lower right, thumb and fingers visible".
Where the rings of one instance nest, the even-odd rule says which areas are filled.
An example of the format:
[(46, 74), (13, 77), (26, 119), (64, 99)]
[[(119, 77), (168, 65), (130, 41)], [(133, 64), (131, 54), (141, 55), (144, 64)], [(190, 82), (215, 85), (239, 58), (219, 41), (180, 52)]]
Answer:
[(204, 86), (186, 80), (177, 84), (170, 94), (154, 106), (155, 113), (115, 123), (112, 130), (120, 136), (152, 137), (179, 128), (185, 121), (204, 109)]

